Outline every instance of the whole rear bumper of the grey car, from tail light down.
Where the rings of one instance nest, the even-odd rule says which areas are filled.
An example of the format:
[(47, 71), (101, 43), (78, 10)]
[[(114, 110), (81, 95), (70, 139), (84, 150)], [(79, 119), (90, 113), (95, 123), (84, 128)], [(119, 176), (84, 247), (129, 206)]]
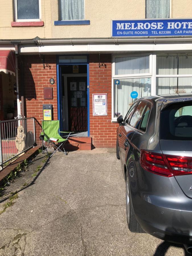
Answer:
[(166, 241), (192, 244), (192, 199), (174, 177), (142, 172), (146, 183), (138, 179), (129, 183), (135, 216), (143, 230)]

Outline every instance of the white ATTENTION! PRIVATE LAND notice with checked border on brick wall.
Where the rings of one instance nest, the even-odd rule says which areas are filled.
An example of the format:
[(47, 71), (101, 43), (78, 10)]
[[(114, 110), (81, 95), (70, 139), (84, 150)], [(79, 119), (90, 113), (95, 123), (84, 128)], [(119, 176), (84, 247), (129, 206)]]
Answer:
[(107, 115), (107, 93), (93, 94), (93, 115)]

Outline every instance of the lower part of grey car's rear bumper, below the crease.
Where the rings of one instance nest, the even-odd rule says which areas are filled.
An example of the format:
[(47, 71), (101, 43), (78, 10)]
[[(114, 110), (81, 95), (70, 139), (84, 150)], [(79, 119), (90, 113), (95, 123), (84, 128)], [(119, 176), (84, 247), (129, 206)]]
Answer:
[[(160, 239), (176, 243), (192, 243), (192, 211), (182, 211), (143, 203), (144, 210), (135, 211), (143, 230)], [(135, 210), (135, 209), (134, 209)]]

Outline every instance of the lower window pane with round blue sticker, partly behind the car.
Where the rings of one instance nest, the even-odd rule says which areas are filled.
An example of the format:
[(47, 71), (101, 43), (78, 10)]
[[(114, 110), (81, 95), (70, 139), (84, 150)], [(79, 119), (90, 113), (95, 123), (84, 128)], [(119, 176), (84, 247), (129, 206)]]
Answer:
[[(125, 115), (136, 99), (131, 98), (131, 92), (136, 91), (138, 98), (151, 95), (150, 78), (120, 79), (119, 85), (114, 84), (114, 117)], [(137, 98), (137, 99), (138, 99)]]

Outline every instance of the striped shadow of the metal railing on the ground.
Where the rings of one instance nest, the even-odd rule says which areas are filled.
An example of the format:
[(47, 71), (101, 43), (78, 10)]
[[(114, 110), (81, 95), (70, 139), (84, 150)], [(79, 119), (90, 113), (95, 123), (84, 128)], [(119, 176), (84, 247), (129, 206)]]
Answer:
[(0, 203), (8, 199), (11, 194), (34, 184), (35, 180), (48, 164), (47, 155), (42, 153), (39, 153), (35, 158), (30, 160), (26, 170), (20, 172), (20, 174), (10, 182), (9, 186), (6, 186), (1, 192), (2, 197), (0, 198)]

